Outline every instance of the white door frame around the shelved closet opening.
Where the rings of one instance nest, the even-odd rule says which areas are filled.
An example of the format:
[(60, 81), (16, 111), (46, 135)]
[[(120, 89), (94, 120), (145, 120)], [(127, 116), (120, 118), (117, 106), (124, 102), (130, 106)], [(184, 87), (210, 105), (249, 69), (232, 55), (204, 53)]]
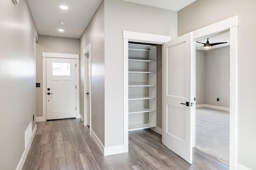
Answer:
[(170, 41), (166, 35), (155, 35), (123, 31), (124, 41), (124, 152), (128, 152), (128, 41), (140, 43), (163, 44)]

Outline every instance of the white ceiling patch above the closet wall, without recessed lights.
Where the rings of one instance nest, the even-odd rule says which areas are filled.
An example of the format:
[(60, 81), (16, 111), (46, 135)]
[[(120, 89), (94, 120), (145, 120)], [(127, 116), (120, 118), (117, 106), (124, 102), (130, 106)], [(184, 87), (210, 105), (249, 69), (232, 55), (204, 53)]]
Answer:
[(154, 6), (158, 8), (163, 8), (167, 10), (178, 11), (192, 4), (196, 0), (124, 0), (128, 2), (134, 2), (137, 4), (143, 4), (148, 6)]

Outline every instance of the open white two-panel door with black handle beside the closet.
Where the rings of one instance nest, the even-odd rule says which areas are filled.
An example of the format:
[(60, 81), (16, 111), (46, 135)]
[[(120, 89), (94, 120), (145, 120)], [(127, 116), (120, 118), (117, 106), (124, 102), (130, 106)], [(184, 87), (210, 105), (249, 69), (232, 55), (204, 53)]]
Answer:
[(164, 43), (163, 143), (189, 163), (192, 163), (191, 57), (192, 33)]

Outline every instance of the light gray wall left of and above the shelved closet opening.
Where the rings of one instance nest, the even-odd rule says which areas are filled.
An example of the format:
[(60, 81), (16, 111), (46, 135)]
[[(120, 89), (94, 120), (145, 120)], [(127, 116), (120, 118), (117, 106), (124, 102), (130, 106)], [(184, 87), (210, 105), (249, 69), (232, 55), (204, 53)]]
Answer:
[(122, 31), (177, 37), (177, 12), (105, 0), (105, 146), (124, 145)]

